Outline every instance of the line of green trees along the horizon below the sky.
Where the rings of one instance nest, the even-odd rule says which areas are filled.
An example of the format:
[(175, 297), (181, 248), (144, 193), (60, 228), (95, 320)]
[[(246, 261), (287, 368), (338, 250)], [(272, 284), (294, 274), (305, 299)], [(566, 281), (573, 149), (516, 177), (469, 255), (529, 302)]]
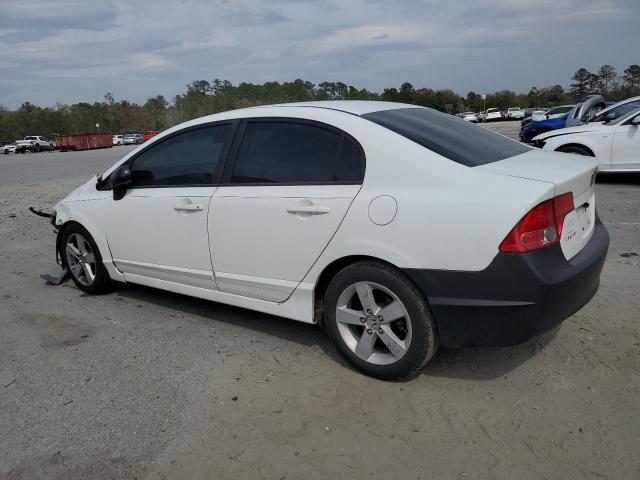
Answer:
[(461, 96), (453, 90), (415, 88), (408, 82), (399, 88), (385, 88), (381, 93), (358, 89), (342, 82), (321, 82), (315, 85), (305, 80), (293, 82), (240, 83), (227, 80), (196, 80), (171, 102), (162, 95), (149, 98), (144, 104), (116, 100), (111, 93), (102, 102), (80, 102), (72, 105), (40, 107), (23, 103), (17, 110), (0, 107), (0, 140), (14, 140), (25, 135), (95, 132), (111, 133), (164, 130), (178, 123), (204, 115), (255, 105), (310, 100), (384, 100), (404, 102), (454, 113), (480, 111), (483, 106), (506, 110), (509, 107), (550, 107), (573, 103), (588, 94), (600, 93), (617, 101), (640, 95), (640, 65), (630, 65), (618, 75), (611, 65), (596, 72), (580, 68), (571, 78), (569, 89), (561, 85), (533, 87), (527, 93), (500, 90), (486, 95), (468, 92)]

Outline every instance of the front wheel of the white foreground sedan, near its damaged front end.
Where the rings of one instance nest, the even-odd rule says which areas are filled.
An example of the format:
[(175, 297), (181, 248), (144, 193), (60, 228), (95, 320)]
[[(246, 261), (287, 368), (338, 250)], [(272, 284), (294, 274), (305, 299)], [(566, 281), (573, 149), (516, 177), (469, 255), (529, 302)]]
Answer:
[(67, 226), (60, 245), (62, 264), (80, 290), (91, 294), (111, 291), (112, 281), (102, 263), (100, 250), (84, 227), (76, 223)]

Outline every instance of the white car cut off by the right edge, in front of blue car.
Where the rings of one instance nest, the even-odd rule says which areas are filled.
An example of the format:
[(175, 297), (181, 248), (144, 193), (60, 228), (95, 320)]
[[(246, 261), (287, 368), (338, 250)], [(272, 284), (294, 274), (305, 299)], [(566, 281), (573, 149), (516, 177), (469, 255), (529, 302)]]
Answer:
[(610, 111), (603, 118), (576, 127), (552, 130), (538, 135), (533, 145), (596, 157), (598, 170), (608, 172), (640, 171), (640, 108), (616, 118)]

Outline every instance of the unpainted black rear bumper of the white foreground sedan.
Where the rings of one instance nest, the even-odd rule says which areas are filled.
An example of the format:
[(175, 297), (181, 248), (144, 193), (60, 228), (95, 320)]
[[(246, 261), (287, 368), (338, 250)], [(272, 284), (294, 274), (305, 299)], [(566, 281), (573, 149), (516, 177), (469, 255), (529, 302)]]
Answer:
[(567, 261), (560, 246), (499, 253), (479, 272), (405, 269), (427, 297), (446, 347), (506, 346), (553, 329), (600, 285), (609, 234), (599, 219), (589, 243)]

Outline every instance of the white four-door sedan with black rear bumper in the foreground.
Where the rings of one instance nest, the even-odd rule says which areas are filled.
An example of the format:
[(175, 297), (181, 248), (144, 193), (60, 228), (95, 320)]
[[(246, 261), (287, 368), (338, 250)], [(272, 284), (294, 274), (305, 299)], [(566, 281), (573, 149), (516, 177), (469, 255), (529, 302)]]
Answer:
[(392, 379), (591, 299), (609, 241), (595, 171), (414, 105), (264, 106), (162, 132), (52, 221), (85, 292), (135, 283), (317, 323)]

